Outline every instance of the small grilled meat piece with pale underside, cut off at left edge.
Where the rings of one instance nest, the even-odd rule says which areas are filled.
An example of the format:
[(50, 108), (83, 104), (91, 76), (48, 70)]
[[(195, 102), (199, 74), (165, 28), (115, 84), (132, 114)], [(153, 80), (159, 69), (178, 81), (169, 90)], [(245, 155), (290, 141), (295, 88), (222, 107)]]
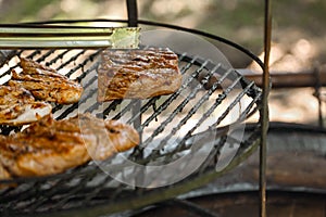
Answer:
[(0, 125), (24, 125), (49, 115), (52, 106), (36, 102), (23, 88), (0, 86)]

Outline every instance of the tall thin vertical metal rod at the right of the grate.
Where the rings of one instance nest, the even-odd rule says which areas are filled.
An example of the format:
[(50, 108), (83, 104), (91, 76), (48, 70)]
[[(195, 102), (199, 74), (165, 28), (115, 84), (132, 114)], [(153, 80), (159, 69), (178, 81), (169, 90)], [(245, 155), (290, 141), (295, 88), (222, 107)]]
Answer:
[(272, 40), (272, 13), (271, 1), (265, 0), (264, 17), (264, 71), (263, 71), (263, 99), (261, 110), (261, 146), (260, 146), (260, 216), (266, 216), (266, 141), (268, 130), (268, 93), (271, 88), (269, 78), (269, 52)]

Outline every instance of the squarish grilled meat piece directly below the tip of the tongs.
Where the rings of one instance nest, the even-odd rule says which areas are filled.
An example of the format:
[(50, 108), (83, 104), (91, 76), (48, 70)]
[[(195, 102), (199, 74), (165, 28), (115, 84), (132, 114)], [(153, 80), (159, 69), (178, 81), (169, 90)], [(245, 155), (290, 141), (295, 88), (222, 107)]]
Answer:
[(98, 68), (98, 101), (170, 94), (181, 80), (178, 56), (167, 48), (108, 49)]

